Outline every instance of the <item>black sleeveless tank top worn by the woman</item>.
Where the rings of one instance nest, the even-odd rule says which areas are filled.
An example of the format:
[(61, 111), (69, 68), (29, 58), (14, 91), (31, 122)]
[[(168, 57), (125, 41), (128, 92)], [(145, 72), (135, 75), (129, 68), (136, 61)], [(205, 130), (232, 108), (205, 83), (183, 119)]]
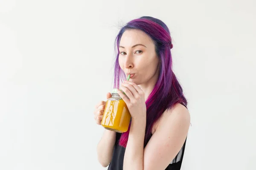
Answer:
[[(113, 149), (113, 156), (112, 156), (111, 163), (108, 166), (108, 170), (123, 170), (125, 147), (122, 147), (119, 145), (119, 139), (121, 137), (121, 134), (122, 133), (116, 133), (116, 142)], [(152, 136), (152, 133), (151, 133), (151, 136)], [(180, 152), (175, 156), (175, 158), (172, 160), (172, 162), (170, 162), (170, 164), (168, 165), (168, 167), (166, 167), (165, 170), (180, 170), (184, 151), (185, 151), (185, 146), (186, 146), (186, 140), (183, 146), (181, 147)]]

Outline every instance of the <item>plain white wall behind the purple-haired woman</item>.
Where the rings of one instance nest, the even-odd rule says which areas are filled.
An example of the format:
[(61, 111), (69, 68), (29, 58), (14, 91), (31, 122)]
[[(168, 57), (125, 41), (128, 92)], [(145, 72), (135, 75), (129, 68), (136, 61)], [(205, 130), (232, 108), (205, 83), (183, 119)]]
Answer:
[[(90, 3), (90, 5), (89, 5)], [(0, 170), (103, 170), (94, 105), (120, 23), (172, 32), (189, 100), (183, 170), (255, 170), (256, 1), (0, 0)]]

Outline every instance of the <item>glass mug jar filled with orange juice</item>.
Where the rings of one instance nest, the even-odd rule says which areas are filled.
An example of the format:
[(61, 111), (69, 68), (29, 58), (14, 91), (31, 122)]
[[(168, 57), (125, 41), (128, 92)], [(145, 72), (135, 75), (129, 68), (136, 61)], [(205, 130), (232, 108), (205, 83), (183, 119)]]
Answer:
[(115, 88), (111, 93), (111, 98), (107, 100), (101, 125), (105, 129), (118, 133), (124, 133), (128, 130), (130, 121), (131, 114), (127, 108), (127, 105), (119, 96), (117, 89)]

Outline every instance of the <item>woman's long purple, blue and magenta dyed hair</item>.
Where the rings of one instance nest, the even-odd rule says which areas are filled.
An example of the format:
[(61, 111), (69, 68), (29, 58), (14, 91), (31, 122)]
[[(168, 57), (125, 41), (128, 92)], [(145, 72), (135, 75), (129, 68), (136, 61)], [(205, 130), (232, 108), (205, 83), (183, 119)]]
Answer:
[[(147, 108), (146, 129), (144, 147), (151, 137), (151, 129), (154, 122), (160, 118), (166, 109), (171, 109), (175, 104), (187, 105), (183, 90), (172, 71), (172, 38), (169, 28), (161, 20), (154, 17), (140, 17), (131, 20), (123, 26), (115, 40), (116, 61), (114, 69), (114, 88), (119, 88), (120, 81), (125, 80), (125, 73), (119, 66), (119, 44), (122, 34), (128, 29), (138, 29), (144, 31), (154, 42), (157, 57), (160, 59), (160, 73), (153, 91), (145, 101)], [(119, 144), (126, 147), (129, 131), (122, 133)]]

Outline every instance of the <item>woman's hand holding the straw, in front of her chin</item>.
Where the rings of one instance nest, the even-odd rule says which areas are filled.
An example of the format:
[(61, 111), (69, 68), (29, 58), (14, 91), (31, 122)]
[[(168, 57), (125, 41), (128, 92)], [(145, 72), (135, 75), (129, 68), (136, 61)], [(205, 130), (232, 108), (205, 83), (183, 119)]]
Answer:
[[(128, 98), (122, 93), (128, 96)], [(122, 83), (118, 94), (125, 101), (132, 119), (146, 118), (145, 94), (138, 85), (133, 82), (125, 81)]]

